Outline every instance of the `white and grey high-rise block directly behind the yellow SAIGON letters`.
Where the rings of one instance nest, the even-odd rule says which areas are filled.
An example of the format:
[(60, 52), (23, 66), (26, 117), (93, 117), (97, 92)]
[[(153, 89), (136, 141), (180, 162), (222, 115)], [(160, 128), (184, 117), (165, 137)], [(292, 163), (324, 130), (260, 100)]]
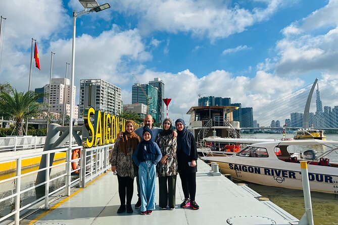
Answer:
[(102, 79), (80, 80), (80, 116), (87, 107), (118, 115), (122, 110), (121, 88)]

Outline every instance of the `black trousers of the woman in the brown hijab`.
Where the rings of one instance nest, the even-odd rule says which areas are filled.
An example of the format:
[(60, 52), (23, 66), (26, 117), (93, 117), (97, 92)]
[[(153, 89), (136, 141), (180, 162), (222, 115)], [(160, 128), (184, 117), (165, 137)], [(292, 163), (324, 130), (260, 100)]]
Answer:
[(119, 196), (121, 205), (126, 204), (127, 197), (127, 205), (131, 204), (131, 198), (134, 192), (134, 179), (130, 177), (121, 177), (117, 175), (117, 180), (119, 183)]

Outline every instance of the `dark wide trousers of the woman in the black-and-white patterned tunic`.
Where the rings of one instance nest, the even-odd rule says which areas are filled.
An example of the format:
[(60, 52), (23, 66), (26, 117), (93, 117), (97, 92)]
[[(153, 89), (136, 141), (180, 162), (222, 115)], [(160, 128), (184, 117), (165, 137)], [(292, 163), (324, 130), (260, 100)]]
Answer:
[(175, 208), (176, 175), (159, 177), (159, 203), (161, 208)]

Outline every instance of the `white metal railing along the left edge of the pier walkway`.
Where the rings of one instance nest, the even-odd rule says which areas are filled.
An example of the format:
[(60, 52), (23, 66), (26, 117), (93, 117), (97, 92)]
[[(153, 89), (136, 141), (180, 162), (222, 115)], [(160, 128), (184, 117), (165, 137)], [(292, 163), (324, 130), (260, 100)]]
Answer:
[[(23, 210), (29, 208), (30, 206), (33, 206), (34, 204), (40, 203), (44, 200), (44, 208), (49, 208), (49, 198), (51, 195), (58, 193), (59, 195), (64, 194), (67, 195), (67, 193), (70, 194), (70, 188), (79, 185), (80, 187), (84, 188), (87, 181), (92, 180), (96, 176), (99, 176), (103, 173), (105, 173), (110, 168), (110, 163), (108, 161), (108, 155), (110, 148), (113, 147), (114, 144), (94, 147), (83, 150), (82, 146), (74, 146), (72, 149), (69, 148), (60, 148), (56, 150), (49, 150), (49, 151), (43, 151), (43, 152), (37, 152), (37, 153), (29, 153), (29, 154), (21, 154), (17, 156), (12, 157), (3, 157), (0, 158), (0, 163), (8, 162), (16, 160), (17, 168), (16, 168), (16, 176), (12, 178), (8, 178), (5, 180), (1, 180), (0, 184), (5, 182), (15, 182), (15, 191), (14, 194), (11, 194), (9, 196), (3, 197), (0, 199), (0, 203), (9, 200), (14, 199), (15, 201), (15, 210), (8, 213), (7, 215), (2, 215), (0, 217), (0, 222), (4, 221), (5, 219), (13, 221), (13, 218), (11, 216), (14, 215), (14, 222), (15, 224), (19, 224), (20, 216), (22, 217)], [(72, 151), (74, 149), (80, 149), (79, 158), (72, 159)], [(52, 153), (57, 152), (66, 152), (66, 160), (65, 162), (50, 165), (48, 163), (50, 161), (50, 157)], [(39, 157), (45, 155), (46, 159), (46, 167), (41, 168), (29, 173), (21, 174), (22, 167), (21, 167), (21, 161), (25, 158), (31, 158), (31, 157)], [(72, 169), (72, 163), (79, 162), (79, 166)], [(63, 166), (64, 170), (61, 175), (58, 175), (57, 177), (54, 177), (50, 179), (50, 169), (53, 170), (53, 168), (57, 166)], [(40, 184), (35, 184), (33, 186), (30, 186), (26, 189), (21, 189), (21, 180), (23, 177), (32, 175), (34, 173), (45, 171), (45, 181)], [(71, 180), (71, 177), (73, 176), (72, 173), (75, 173), (78, 171), (78, 178)], [(53, 181), (56, 181), (57, 179), (63, 179), (65, 178), (64, 184), (57, 188), (56, 190), (50, 192), (50, 184)], [(27, 203), (26, 205), (20, 205), (20, 199), (22, 195), (32, 189), (35, 189), (36, 187), (40, 187), (44, 185), (44, 195), (32, 202)], [(12, 192), (13, 193), (13, 192)], [(68, 194), (68, 195), (69, 195)], [(21, 212), (21, 215), (20, 215)]]

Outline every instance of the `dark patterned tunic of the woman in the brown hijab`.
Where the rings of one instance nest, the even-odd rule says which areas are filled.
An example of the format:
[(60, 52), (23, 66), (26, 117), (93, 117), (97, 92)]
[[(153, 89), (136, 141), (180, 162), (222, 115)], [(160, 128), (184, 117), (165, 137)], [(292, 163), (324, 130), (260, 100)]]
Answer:
[(120, 140), (116, 139), (114, 148), (109, 152), (109, 162), (116, 166), (116, 173), (121, 177), (134, 178), (137, 176), (136, 166), (132, 160), (134, 150), (129, 148), (127, 155), (120, 150)]

